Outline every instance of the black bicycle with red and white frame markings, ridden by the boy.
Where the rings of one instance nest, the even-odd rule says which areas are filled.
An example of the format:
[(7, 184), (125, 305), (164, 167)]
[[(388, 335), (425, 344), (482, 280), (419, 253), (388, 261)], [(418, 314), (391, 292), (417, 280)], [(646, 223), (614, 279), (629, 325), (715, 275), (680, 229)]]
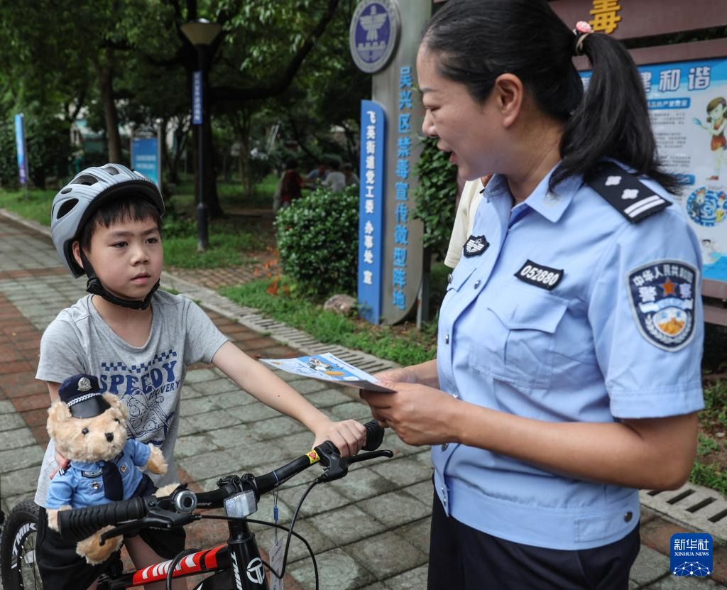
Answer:
[[(170, 496), (163, 498), (154, 496), (130, 498), (89, 508), (63, 510), (58, 514), (60, 534), (69, 541), (80, 541), (104, 526), (111, 525), (114, 527), (113, 530), (109, 530), (102, 536), (102, 539), (105, 540), (122, 534), (133, 534), (142, 528), (170, 529), (186, 526), (204, 518), (226, 520), (230, 537), (225, 543), (209, 549), (185, 549), (174, 559), (129, 572), (122, 570), (121, 560), (118, 559), (100, 578), (97, 590), (121, 590), (156, 581), (166, 581), (166, 587), (169, 589), (172, 578), (185, 578), (201, 573), (210, 575), (198, 583), (194, 590), (269, 590), (264, 568), (267, 567), (270, 570), (271, 581), (273, 576), (283, 578), (292, 536), (299, 538), (308, 549), (313, 561), (316, 589), (318, 589), (318, 566), (313, 549), (305, 538), (294, 533), (293, 528), (300, 507), (313, 487), (319, 483), (345, 477), (350, 464), (377, 457), (393, 457), (390, 450), (376, 450), (381, 445), (384, 434), (377, 421), (371, 421), (364, 426), (366, 427), (364, 450), (369, 452), (342, 458), (333, 443), (326, 441), (272, 472), (257, 477), (251, 473), (241, 477), (226, 475), (217, 481), (217, 490), (193, 493), (186, 489), (186, 484), (184, 484), (177, 487)], [(316, 463), (324, 466), (324, 472), (316, 477), (302, 494), (289, 528), (249, 518), (257, 511), (260, 496), (275, 490)], [(36, 508), (34, 521), (29, 517), (28, 503)], [(195, 512), (197, 508), (222, 508), (225, 515), (199, 514)], [(15, 515), (14, 520), (16, 510), (19, 514)], [(28, 548), (28, 536), (31, 534), (31, 530), (34, 541), (37, 517), (37, 506), (30, 501), (18, 504), (9, 514), (5, 532), (8, 533), (9, 538), (13, 539), (12, 547), (5, 546), (3, 543), (2, 554), (0, 554), (0, 572), (4, 590), (30, 590), (42, 587), (40, 578), (36, 577), (37, 570), (34, 567), (31, 549)], [(9, 533), (11, 520), (14, 523), (12, 529), (15, 530), (15, 535)], [(288, 531), (279, 572), (273, 570), (273, 567), (260, 557), (260, 549), (258, 549), (255, 536), (250, 531), (248, 523), (269, 525)], [(20, 536), (20, 541), (25, 541), (25, 543), (18, 543), (18, 535), (23, 527), (28, 532), (25, 533), (25, 536)]]

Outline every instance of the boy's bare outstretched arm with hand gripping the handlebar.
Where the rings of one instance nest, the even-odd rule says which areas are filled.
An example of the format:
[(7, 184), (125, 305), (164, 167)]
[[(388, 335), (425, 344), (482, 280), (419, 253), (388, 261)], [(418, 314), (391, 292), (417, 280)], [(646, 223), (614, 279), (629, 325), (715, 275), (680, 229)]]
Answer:
[(330, 440), (343, 456), (355, 455), (366, 443), (366, 429), (356, 420), (334, 422), (262, 363), (252, 359), (232, 342), (214, 353), (212, 363), (241, 389), (270, 408), (284, 413), (313, 432), (313, 446)]

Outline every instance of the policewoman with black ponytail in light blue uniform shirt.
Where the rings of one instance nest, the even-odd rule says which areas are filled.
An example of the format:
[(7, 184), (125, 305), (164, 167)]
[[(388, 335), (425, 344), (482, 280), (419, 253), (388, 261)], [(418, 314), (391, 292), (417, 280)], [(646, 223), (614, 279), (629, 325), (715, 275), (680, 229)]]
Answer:
[(638, 70), (545, 0), (447, 1), (417, 70), (423, 131), (463, 178), (496, 173), (436, 360), (362, 394), (433, 445), (428, 587), (626, 589), (638, 488), (686, 481), (703, 407), (699, 244)]

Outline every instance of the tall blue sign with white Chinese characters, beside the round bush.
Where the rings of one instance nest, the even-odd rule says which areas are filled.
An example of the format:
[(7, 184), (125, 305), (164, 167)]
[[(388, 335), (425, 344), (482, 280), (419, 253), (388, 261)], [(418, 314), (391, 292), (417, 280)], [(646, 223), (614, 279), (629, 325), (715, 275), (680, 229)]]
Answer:
[(384, 248), (384, 109), (361, 101), (361, 184), (358, 206), (358, 313), (381, 320), (382, 258)]

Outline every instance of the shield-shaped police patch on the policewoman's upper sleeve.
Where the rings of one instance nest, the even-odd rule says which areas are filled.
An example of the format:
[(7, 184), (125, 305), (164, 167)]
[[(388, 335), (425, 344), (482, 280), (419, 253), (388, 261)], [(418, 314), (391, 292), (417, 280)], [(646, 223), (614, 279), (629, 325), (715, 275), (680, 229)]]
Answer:
[(627, 288), (641, 335), (664, 350), (679, 350), (694, 334), (696, 269), (678, 260), (651, 262), (629, 272)]

